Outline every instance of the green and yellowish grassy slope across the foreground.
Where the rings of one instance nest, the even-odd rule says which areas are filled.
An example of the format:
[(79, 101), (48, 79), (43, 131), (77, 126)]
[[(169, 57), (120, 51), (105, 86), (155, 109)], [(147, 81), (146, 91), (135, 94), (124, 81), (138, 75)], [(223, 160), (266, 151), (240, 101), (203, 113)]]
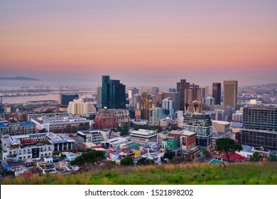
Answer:
[[(99, 169), (99, 168), (98, 168)], [(277, 163), (114, 167), (74, 175), (5, 178), (2, 184), (277, 184)]]

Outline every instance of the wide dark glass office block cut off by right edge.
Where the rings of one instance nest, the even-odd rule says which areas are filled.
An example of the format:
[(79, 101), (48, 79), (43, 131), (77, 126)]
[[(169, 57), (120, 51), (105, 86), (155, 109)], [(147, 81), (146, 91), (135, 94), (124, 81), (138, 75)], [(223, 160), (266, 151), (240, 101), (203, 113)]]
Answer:
[(244, 128), (241, 130), (241, 144), (263, 146), (277, 150), (277, 107), (251, 105), (244, 107)]

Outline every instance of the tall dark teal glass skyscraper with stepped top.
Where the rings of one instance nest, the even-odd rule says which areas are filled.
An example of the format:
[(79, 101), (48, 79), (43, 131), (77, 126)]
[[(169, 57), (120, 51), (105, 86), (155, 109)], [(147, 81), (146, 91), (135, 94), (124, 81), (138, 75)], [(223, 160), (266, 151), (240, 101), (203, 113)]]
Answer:
[(119, 80), (110, 80), (109, 75), (102, 76), (102, 108), (126, 109), (125, 85)]

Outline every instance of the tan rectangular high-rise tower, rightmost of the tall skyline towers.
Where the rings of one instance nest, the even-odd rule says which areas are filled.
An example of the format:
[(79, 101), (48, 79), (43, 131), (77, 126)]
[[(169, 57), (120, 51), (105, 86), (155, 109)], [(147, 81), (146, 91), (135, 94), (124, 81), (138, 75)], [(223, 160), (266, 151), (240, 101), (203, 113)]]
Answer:
[(223, 104), (237, 109), (237, 80), (223, 81)]

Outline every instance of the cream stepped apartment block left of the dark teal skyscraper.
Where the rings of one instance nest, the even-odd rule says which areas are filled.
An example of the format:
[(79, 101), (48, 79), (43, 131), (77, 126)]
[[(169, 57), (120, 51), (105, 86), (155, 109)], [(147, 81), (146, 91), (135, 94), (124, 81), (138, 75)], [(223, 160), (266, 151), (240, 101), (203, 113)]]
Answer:
[(73, 102), (69, 102), (67, 112), (74, 115), (85, 115), (96, 112), (96, 109), (92, 102), (85, 102), (85, 98), (80, 97), (80, 99), (73, 99)]

